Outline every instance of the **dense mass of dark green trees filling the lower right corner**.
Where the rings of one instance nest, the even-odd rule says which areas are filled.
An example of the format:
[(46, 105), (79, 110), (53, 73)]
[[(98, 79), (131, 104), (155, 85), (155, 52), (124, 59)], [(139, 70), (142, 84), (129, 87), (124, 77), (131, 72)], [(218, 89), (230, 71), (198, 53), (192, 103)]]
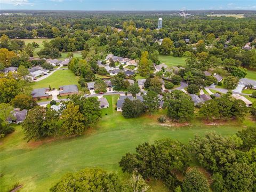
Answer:
[[(143, 179), (160, 179), (171, 191), (255, 191), (256, 127), (225, 137), (217, 133), (196, 136), (188, 145), (177, 140), (142, 143), (136, 153), (127, 153), (119, 165), (123, 172), (134, 170)], [(189, 168), (191, 157), (210, 172), (208, 180)], [(179, 177), (178, 177), (179, 175)], [(183, 180), (180, 175), (184, 175)]]

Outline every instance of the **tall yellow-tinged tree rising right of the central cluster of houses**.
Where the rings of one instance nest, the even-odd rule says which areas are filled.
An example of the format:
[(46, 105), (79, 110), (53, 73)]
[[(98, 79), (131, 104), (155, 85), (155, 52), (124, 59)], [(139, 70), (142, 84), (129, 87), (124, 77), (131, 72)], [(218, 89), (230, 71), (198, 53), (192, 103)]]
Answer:
[(144, 51), (141, 54), (138, 71), (142, 77), (148, 77), (150, 73), (151, 61), (148, 60), (148, 52)]

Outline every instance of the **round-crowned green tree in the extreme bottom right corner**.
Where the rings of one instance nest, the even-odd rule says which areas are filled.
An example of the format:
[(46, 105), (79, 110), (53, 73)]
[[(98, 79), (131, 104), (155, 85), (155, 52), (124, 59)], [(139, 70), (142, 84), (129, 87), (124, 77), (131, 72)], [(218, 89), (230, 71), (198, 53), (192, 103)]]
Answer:
[(253, 182), (255, 182), (255, 175), (250, 165), (235, 162), (227, 168), (225, 184), (229, 191), (253, 191), (255, 189)]

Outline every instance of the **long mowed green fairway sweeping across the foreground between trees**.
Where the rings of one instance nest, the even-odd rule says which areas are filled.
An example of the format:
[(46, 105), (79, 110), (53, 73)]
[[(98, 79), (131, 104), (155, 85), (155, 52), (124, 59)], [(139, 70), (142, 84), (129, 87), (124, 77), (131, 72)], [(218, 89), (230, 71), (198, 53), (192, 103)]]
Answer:
[[(79, 137), (27, 143), (23, 140), (21, 126), (15, 126), (15, 132), (2, 139), (0, 145), (1, 191), (10, 191), (15, 184), (22, 185), (20, 191), (48, 191), (66, 172), (86, 167), (102, 167), (127, 180), (129, 175), (122, 173), (118, 162), (125, 153), (133, 153), (142, 142), (171, 138), (188, 143), (195, 134), (215, 131), (232, 135), (243, 129), (245, 124), (255, 123), (246, 119), (244, 123), (220, 125), (206, 125), (198, 121), (183, 126), (159, 124), (157, 117), (165, 111), (125, 119), (115, 111), (118, 97), (106, 96), (110, 107), (102, 109), (100, 122)], [(153, 191), (167, 191), (161, 182), (151, 181), (149, 184)]]

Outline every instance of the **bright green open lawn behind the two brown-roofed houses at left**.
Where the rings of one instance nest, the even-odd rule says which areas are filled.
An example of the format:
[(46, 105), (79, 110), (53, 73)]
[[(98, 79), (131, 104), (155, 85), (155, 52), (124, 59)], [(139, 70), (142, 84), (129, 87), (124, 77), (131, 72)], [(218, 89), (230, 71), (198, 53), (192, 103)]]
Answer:
[(58, 89), (62, 85), (78, 85), (78, 77), (70, 70), (57, 70), (49, 77), (39, 82), (31, 83), (33, 89), (49, 87)]

